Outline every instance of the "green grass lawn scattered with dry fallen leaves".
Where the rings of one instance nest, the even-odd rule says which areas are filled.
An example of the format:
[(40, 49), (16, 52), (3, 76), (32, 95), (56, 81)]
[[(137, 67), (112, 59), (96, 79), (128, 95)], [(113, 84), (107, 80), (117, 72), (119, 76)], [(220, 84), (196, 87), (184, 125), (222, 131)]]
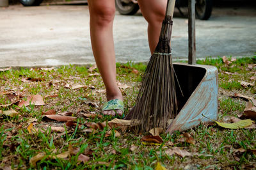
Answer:
[[(229, 58), (230, 59), (230, 58)], [(219, 71), (219, 119), (225, 116), (237, 116), (243, 112), (245, 102), (239, 98), (230, 98), (234, 93), (242, 93), (255, 98), (255, 86), (244, 88), (239, 81), (255, 84), (250, 77), (255, 76), (255, 66), (248, 69), (248, 65), (256, 63), (254, 58), (240, 58), (230, 65), (225, 65), (221, 58), (197, 61), (198, 64), (214, 65)], [(122, 89), (124, 95), (125, 114), (134, 105), (136, 94), (140, 86), (141, 75), (145, 70), (142, 63), (116, 64), (117, 81), (130, 88)], [(138, 72), (137, 72), (137, 71)], [(61, 66), (54, 70), (40, 70), (37, 68), (20, 68), (20, 70), (9, 70), (0, 72), (0, 93), (4, 91), (15, 91), (20, 98), (24, 99), (30, 95), (56, 95), (56, 97), (44, 98), (45, 105), (29, 105), (18, 109), (13, 104), (1, 107), (2, 111), (15, 109), (19, 115), (10, 118), (0, 116), (0, 167), (9, 166), (12, 169), (154, 169), (156, 162), (168, 169), (246, 169), (256, 168), (256, 156), (249, 149), (256, 148), (256, 130), (239, 129), (228, 130), (217, 125), (200, 125), (187, 130), (195, 139), (196, 144), (182, 143), (179, 139), (182, 132), (174, 134), (161, 134), (164, 143), (172, 142), (174, 146), (198, 153), (199, 156), (179, 157), (168, 155), (166, 151), (172, 147), (161, 144), (145, 145), (141, 143), (141, 135), (132, 131), (120, 132), (121, 136), (115, 136), (115, 129), (108, 128), (97, 130), (95, 134), (86, 133), (86, 122), (109, 121), (109, 116), (103, 118), (86, 119), (79, 116), (84, 113), (100, 113), (100, 105), (106, 101), (104, 84), (98, 74), (98, 70), (89, 72), (84, 66)], [(94, 75), (92, 75), (94, 74)], [(29, 79), (41, 78), (42, 81), (28, 81)], [(83, 84), (88, 88), (70, 89), (74, 84)], [(66, 87), (65, 87), (66, 86)], [(98, 92), (97, 92), (98, 91)], [(11, 104), (12, 96), (1, 95), (0, 104)], [(90, 102), (86, 102), (89, 101)], [(65, 123), (56, 121), (45, 121), (42, 112), (54, 109), (56, 112), (72, 112), (77, 116), (77, 126), (67, 127)], [(31, 118), (36, 118), (34, 127), (43, 128), (36, 133), (29, 134), (28, 125)], [(52, 132), (45, 125), (65, 127), (65, 132)], [(35, 167), (29, 164), (29, 160), (37, 153), (45, 155), (58, 155), (68, 151), (68, 146), (80, 148), (79, 152), (68, 158), (39, 160)], [(237, 152), (243, 148), (244, 152)], [(85, 163), (77, 159), (80, 153), (91, 150), (90, 160)]]

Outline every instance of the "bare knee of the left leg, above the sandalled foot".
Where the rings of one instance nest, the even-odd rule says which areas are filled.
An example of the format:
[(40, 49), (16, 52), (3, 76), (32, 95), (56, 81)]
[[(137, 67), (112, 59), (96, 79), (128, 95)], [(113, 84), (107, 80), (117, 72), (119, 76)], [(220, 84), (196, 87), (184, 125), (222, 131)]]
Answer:
[(108, 26), (112, 24), (115, 17), (115, 8), (100, 8), (91, 14), (91, 22), (97, 26)]

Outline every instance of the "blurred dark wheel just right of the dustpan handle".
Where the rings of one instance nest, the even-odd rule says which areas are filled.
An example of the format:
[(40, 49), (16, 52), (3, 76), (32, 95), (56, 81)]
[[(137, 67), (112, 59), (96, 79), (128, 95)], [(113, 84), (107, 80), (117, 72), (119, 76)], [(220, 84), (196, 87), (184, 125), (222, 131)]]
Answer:
[(212, 0), (196, 0), (195, 10), (198, 19), (209, 19), (212, 13)]

